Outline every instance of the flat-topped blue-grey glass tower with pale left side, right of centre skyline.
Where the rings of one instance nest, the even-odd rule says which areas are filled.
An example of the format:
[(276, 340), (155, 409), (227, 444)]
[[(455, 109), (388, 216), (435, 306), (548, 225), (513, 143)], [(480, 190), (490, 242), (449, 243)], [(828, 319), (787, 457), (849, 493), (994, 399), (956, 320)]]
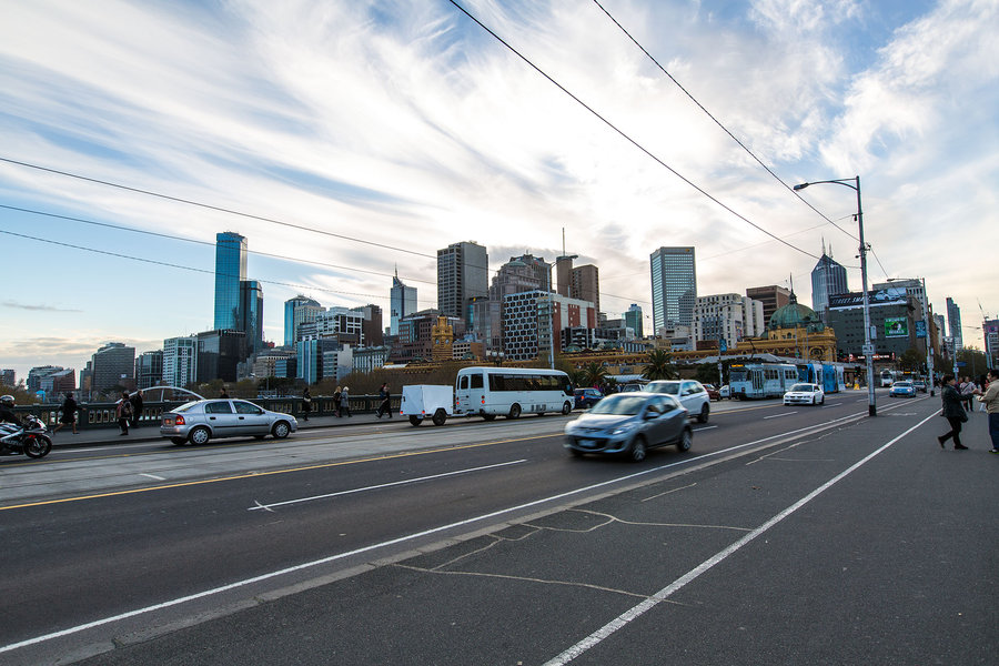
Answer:
[(653, 325), (675, 330), (693, 326), (697, 301), (697, 271), (694, 248), (659, 248), (652, 264)]

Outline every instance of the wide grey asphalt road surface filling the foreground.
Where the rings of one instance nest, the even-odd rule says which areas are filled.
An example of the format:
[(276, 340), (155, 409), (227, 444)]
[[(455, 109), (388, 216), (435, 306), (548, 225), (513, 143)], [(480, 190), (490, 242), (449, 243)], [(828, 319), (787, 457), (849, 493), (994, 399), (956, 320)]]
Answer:
[(548, 416), (0, 466), (0, 662), (995, 663), (999, 456), (938, 405), (737, 405), (640, 465)]

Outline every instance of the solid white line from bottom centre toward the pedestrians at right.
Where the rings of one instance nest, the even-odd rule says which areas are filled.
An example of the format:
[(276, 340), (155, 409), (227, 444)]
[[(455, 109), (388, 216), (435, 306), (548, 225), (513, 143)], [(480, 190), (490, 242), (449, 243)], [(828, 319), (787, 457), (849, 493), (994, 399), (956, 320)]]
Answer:
[(895, 444), (896, 442), (898, 442), (899, 440), (901, 440), (909, 433), (914, 432), (916, 428), (918, 428), (919, 426), (921, 426), (924, 423), (928, 422), (929, 420), (934, 418), (935, 416), (936, 416), (936, 414), (927, 416), (926, 418), (924, 418), (922, 421), (920, 421), (919, 423), (917, 423), (916, 425), (914, 425), (912, 427), (910, 427), (902, 434), (898, 435), (897, 437), (895, 437), (887, 444), (884, 444), (877, 451), (870, 453), (869, 455), (861, 458), (857, 463), (850, 465), (844, 472), (840, 472), (839, 474), (837, 474), (836, 476), (834, 476), (833, 478), (830, 478), (829, 481), (827, 481), (826, 483), (824, 483), (823, 485), (817, 487), (816, 490), (811, 491), (810, 493), (808, 493), (807, 495), (805, 495), (804, 497), (801, 497), (800, 500), (798, 500), (797, 502), (795, 502), (794, 504), (791, 504), (790, 506), (788, 506), (787, 508), (781, 511), (779, 514), (777, 514), (776, 516), (774, 516), (773, 518), (770, 518), (769, 521), (767, 521), (766, 523), (764, 523), (763, 525), (760, 525), (759, 527), (757, 527), (756, 529), (754, 529), (753, 532), (750, 532), (749, 534), (744, 536), (743, 538), (738, 539), (737, 542), (735, 542), (727, 548), (719, 551), (718, 553), (716, 553), (714, 556), (709, 557), (708, 559), (705, 559), (699, 565), (697, 565), (696, 567), (694, 567), (693, 569), (690, 569), (689, 572), (687, 572), (686, 574), (684, 574), (683, 576), (680, 576), (679, 578), (677, 578), (676, 581), (674, 581), (673, 583), (670, 583), (669, 585), (667, 585), (666, 587), (664, 587), (663, 589), (657, 592), (656, 594), (652, 595), (649, 598), (642, 602), (637, 606), (634, 606), (633, 608), (625, 610), (624, 613), (622, 613), (620, 615), (615, 617), (613, 620), (610, 620), (609, 623), (607, 623), (606, 625), (604, 625), (603, 627), (601, 627), (599, 629), (597, 629), (596, 632), (594, 632), (593, 634), (591, 634), (589, 636), (587, 636), (586, 638), (584, 638), (583, 640), (577, 643), (576, 645), (572, 646), (571, 648), (568, 648), (567, 650), (565, 650), (564, 653), (562, 653), (554, 659), (549, 659), (548, 662), (545, 663), (544, 666), (564, 666), (565, 664), (568, 664), (569, 662), (572, 662), (573, 659), (575, 659), (576, 657), (578, 657), (579, 655), (582, 655), (589, 648), (594, 647), (595, 645), (597, 645), (598, 643), (601, 643), (602, 640), (607, 638), (614, 632), (625, 627), (628, 623), (630, 623), (632, 620), (634, 620), (637, 617), (639, 617), (640, 615), (643, 615), (646, 610), (654, 608), (662, 602), (669, 598), (669, 596), (672, 596), (675, 592), (678, 592), (679, 589), (682, 589), (684, 586), (687, 585), (687, 583), (690, 583), (692, 581), (694, 581), (695, 578), (700, 576), (700, 574), (707, 572), (708, 569), (714, 567), (716, 564), (724, 562), (726, 558), (728, 558), (729, 555), (731, 555), (733, 553), (735, 553), (736, 551), (738, 551), (739, 548), (741, 548), (743, 546), (745, 546), (746, 544), (748, 544), (749, 542), (755, 539), (757, 536), (759, 536), (760, 534), (764, 534), (770, 527), (773, 527), (777, 523), (781, 522), (784, 518), (788, 517), (789, 515), (791, 515), (793, 513), (795, 513), (796, 511), (798, 511), (799, 508), (801, 508), (803, 506), (805, 506), (806, 504), (808, 504), (809, 502), (811, 502), (813, 500), (815, 500), (816, 497), (818, 497), (819, 495), (821, 495), (823, 493), (825, 493), (826, 491), (831, 488), (834, 485), (836, 485), (837, 483), (839, 483), (840, 481), (842, 481), (844, 478), (846, 478), (847, 476), (849, 476), (850, 474), (852, 474), (854, 472), (859, 470), (861, 466), (866, 465), (868, 462), (874, 460), (876, 456), (880, 455), (889, 446), (891, 446), (892, 444)]

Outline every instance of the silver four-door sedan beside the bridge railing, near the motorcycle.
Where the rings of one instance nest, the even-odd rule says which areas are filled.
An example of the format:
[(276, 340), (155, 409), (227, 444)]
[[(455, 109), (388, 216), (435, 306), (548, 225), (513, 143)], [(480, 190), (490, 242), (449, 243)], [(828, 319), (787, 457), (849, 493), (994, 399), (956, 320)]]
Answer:
[(271, 412), (245, 400), (198, 400), (164, 412), (160, 434), (174, 444), (204, 444), (218, 437), (282, 440), (299, 430), (291, 414)]

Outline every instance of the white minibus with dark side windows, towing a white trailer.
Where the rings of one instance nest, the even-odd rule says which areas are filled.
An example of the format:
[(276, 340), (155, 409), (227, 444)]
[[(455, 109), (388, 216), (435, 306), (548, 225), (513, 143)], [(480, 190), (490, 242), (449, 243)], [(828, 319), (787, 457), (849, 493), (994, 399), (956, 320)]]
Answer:
[(573, 411), (573, 386), (558, 370), (463, 367), (454, 383), (454, 412), (492, 421), (497, 415)]

